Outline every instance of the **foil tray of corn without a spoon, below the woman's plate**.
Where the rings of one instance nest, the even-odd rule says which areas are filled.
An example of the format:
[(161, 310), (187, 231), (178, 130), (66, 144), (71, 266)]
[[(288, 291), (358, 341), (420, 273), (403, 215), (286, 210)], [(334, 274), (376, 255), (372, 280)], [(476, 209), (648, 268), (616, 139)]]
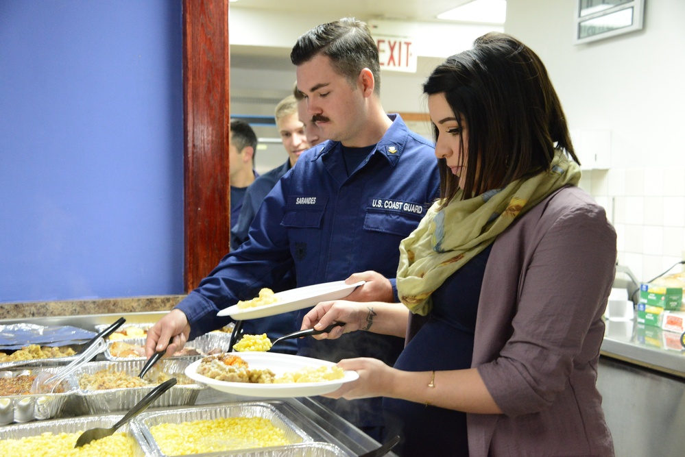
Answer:
[[(158, 412), (143, 412), (132, 421), (132, 428), (136, 430), (145, 439), (141, 446), (149, 456), (166, 457), (160, 449), (160, 446), (152, 436), (150, 429), (154, 425), (160, 423), (183, 423), (190, 421), (197, 421), (199, 419), (219, 419), (224, 417), (262, 417), (269, 419), (272, 423), (285, 432), (285, 437), (291, 443), (297, 443), (289, 446), (278, 447), (263, 447), (258, 449), (241, 449), (232, 452), (213, 452), (211, 454), (193, 454), (197, 455), (212, 455), (212, 456), (290, 456), (290, 455), (310, 455), (302, 453), (283, 454), (288, 447), (314, 445), (313, 439), (296, 423), (289, 419), (283, 412), (280, 412), (274, 406), (266, 402), (245, 402), (245, 403), (228, 403), (211, 406), (196, 406), (193, 408), (177, 408), (174, 410), (158, 411)], [(225, 437), (224, 437), (225, 438)], [(315, 446), (313, 446), (315, 447)], [(295, 452), (293, 447), (293, 452)], [(300, 451), (302, 447), (299, 448)], [(276, 452), (274, 454), (274, 452)], [(299, 452), (299, 451), (298, 451)], [(319, 455), (346, 455), (346, 454), (311, 454), (312, 456)]]

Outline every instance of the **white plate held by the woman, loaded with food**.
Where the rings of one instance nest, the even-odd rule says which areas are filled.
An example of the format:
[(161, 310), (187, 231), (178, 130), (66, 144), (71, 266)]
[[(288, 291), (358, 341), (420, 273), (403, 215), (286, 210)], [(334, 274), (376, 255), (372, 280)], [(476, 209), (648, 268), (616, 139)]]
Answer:
[[(276, 352), (234, 352), (241, 359), (248, 362), (250, 369), (269, 369), (282, 375), (287, 371), (298, 371), (305, 367), (333, 367), (335, 363), (317, 358), (291, 356)], [(309, 397), (333, 392), (346, 382), (359, 378), (357, 371), (345, 371), (342, 379), (324, 382), (297, 382), (292, 384), (250, 384), (248, 382), (217, 381), (197, 373), (197, 367), (202, 360), (188, 365), (186, 375), (194, 381), (202, 382), (217, 391), (232, 393), (234, 395), (246, 395), (248, 397), (265, 398), (291, 398)]]

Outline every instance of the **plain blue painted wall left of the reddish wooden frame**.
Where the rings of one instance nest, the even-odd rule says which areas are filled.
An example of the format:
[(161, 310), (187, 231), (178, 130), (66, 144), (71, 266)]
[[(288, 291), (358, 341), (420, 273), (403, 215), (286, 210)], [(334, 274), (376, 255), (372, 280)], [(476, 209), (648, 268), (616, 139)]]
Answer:
[(183, 293), (180, 0), (0, 0), (0, 302)]

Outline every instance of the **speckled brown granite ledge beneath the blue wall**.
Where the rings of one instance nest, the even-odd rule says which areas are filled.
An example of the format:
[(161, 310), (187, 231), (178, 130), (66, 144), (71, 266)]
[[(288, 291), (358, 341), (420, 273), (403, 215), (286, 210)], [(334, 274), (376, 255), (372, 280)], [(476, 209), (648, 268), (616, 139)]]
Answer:
[(171, 310), (185, 295), (0, 303), (0, 319)]

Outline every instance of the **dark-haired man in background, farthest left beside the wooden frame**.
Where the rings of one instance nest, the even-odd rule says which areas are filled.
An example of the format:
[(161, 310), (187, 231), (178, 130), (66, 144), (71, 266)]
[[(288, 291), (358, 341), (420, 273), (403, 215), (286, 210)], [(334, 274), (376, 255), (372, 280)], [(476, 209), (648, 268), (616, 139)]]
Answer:
[(230, 121), (228, 160), (230, 166), (230, 227), (238, 222), (248, 186), (259, 176), (254, 170), (257, 136), (250, 124), (240, 119)]

